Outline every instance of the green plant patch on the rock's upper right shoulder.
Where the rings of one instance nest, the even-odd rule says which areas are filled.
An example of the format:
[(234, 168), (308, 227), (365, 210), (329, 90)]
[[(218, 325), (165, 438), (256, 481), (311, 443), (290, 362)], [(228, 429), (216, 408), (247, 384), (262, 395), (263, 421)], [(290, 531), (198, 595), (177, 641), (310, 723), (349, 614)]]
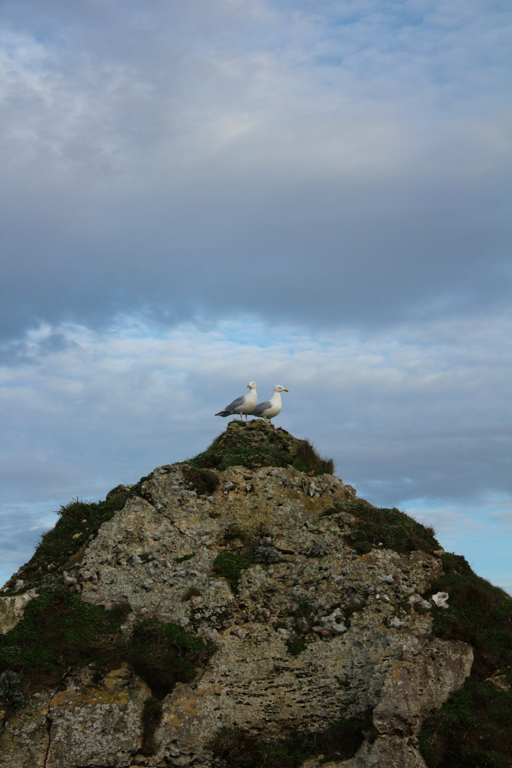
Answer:
[(432, 528), (426, 528), (399, 509), (376, 508), (362, 500), (346, 502), (343, 508), (357, 519), (357, 526), (347, 541), (359, 554), (380, 546), (402, 553), (441, 549)]

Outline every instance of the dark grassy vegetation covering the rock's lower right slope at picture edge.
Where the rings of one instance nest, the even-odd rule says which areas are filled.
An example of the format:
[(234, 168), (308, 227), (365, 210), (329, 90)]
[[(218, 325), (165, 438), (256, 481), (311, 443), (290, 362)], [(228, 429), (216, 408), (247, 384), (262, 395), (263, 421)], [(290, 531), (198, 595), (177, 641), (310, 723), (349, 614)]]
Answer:
[(420, 748), (429, 768), (508, 768), (512, 764), (512, 598), (443, 554), (444, 574), (428, 595), (448, 592), (432, 630), (474, 650), (471, 676), (425, 721)]

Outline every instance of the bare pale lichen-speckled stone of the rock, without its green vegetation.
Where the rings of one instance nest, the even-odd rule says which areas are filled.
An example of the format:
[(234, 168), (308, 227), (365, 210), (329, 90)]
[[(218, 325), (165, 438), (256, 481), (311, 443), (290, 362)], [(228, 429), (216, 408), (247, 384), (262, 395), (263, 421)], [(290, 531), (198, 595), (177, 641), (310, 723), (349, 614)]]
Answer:
[[(250, 440), (251, 423), (228, 432)], [(259, 442), (274, 432), (255, 423)], [(364, 723), (360, 746), (325, 765), (424, 766), (421, 723), (473, 659), (467, 644), (431, 634), (431, 612), (442, 609), (421, 595), (441, 573), (439, 552), (377, 542), (358, 554), (354, 489), (292, 463), (230, 466), (214, 478), (187, 462), (164, 465), (140, 494), (62, 579), (83, 601), (129, 604), (125, 634), (141, 618), (173, 622), (213, 655), (161, 701), (151, 750), (147, 684), (127, 665), (101, 680), (86, 667), (8, 718), (2, 768), (241, 765), (215, 748), (226, 729), (271, 743), (342, 719)]]

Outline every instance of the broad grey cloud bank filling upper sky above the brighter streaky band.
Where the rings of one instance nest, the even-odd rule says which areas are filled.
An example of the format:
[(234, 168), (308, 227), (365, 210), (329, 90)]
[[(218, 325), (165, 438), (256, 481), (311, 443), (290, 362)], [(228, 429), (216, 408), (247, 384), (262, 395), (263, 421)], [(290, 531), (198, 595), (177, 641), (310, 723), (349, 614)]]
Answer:
[(504, 303), (503, 7), (7, 2), (4, 328)]

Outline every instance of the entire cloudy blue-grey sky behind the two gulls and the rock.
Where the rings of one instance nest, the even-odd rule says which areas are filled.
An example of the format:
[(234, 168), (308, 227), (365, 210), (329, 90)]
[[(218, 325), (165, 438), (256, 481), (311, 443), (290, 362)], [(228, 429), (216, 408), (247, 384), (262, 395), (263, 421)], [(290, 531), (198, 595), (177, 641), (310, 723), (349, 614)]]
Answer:
[(254, 379), (512, 589), (511, 28), (492, 0), (3, 0), (0, 583)]

